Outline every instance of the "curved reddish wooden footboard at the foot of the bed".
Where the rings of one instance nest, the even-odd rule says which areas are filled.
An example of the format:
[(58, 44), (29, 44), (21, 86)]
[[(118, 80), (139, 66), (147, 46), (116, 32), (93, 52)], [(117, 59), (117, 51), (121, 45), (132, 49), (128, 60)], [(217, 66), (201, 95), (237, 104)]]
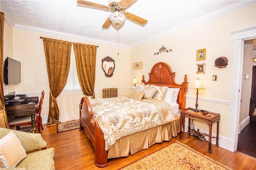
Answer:
[(104, 134), (98, 122), (93, 119), (92, 108), (87, 97), (83, 97), (80, 102), (80, 130), (82, 127), (94, 146), (96, 154), (94, 164), (100, 168), (108, 166)]

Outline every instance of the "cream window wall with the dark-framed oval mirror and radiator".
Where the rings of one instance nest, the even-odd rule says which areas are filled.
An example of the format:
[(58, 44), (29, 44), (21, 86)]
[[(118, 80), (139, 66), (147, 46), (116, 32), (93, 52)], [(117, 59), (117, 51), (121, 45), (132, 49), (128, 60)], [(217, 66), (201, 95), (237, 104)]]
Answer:
[[(8, 23), (6, 24), (8, 25)], [(43, 40), (40, 36), (65, 40), (70, 42), (79, 42), (92, 44), (90, 42), (75, 40), (70, 38), (63, 38), (58, 36), (40, 34), (37, 32), (29, 32), (24, 30), (4, 30), (4, 36), (9, 37), (13, 44), (13, 58), (21, 62), (21, 83), (15, 85), (8, 85), (8, 93), (16, 91), (18, 93), (28, 94), (32, 96), (40, 96), (42, 90), (46, 91), (44, 96), (44, 105), (42, 107), (42, 117), (48, 116), (48, 103), (49, 103), (49, 83), (48, 74), (46, 69), (46, 61), (44, 55)], [(7, 32), (8, 31), (8, 32)], [(12, 31), (13, 38), (10, 34)], [(8, 42), (5, 40), (4, 42)], [(102, 88), (118, 87), (118, 95), (128, 95), (130, 93), (130, 87), (132, 84), (130, 77), (130, 49), (125, 47), (119, 48), (119, 56), (117, 55), (117, 47), (106, 44), (93, 44), (98, 45), (96, 56), (96, 81), (95, 81), (95, 97), (102, 97)], [(10, 48), (12, 49), (12, 48)], [(9, 51), (4, 47), (4, 51)], [(4, 57), (6, 57), (6, 53)], [(115, 60), (115, 70), (112, 77), (105, 77), (101, 66), (101, 60), (110, 56)], [(12, 56), (11, 56), (12, 57)], [(6, 92), (5, 92), (6, 94)]]

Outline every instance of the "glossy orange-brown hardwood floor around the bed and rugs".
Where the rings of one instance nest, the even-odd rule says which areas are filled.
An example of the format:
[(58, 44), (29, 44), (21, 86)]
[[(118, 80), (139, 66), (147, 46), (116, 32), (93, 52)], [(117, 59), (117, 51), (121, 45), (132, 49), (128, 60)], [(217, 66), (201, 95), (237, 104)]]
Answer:
[(173, 137), (168, 142), (154, 144), (149, 149), (141, 150), (136, 154), (123, 158), (114, 158), (108, 160), (108, 166), (98, 168), (94, 165), (95, 153), (90, 140), (86, 137), (84, 130), (70, 130), (67, 132), (57, 133), (56, 125), (46, 127), (41, 130), (44, 140), (47, 142), (47, 148), (55, 148), (55, 168), (56, 170), (115, 170), (139, 160), (141, 157), (151, 154), (160, 148), (178, 140), (194, 150), (230, 167), (234, 170), (255, 170), (256, 159), (240, 154), (238, 152), (230, 152), (224, 148), (212, 145), (212, 153), (208, 152), (208, 143), (204, 140), (190, 136), (186, 133), (182, 134), (182, 139)]

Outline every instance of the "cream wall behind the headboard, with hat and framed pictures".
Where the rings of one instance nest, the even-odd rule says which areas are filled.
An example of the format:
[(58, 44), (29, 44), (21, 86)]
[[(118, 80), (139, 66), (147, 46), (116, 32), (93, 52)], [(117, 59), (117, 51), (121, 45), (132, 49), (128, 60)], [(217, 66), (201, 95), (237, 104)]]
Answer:
[[(143, 69), (131, 70), (131, 76), (146, 75), (151, 67), (159, 61), (166, 62), (176, 72), (176, 82), (181, 83), (184, 75), (188, 75), (188, 92), (186, 107), (195, 107), (196, 90), (190, 89), (194, 80), (202, 80), (205, 89), (199, 89), (198, 109), (204, 109), (221, 114), (220, 135), (228, 134), (230, 83), (232, 75), (233, 34), (231, 32), (256, 26), (256, 6), (251, 6), (233, 12), (214, 20), (174, 32), (149, 43), (131, 49), (131, 64), (143, 62)], [(172, 52), (162, 52), (154, 55), (164, 45)], [(206, 60), (196, 61), (196, 50), (206, 48)], [(214, 67), (216, 58), (228, 58), (226, 68)], [(196, 64), (206, 63), (205, 74), (196, 74)], [(212, 75), (218, 75), (217, 81), (212, 81)], [(195, 123), (200, 130), (208, 131), (204, 124)], [(216, 126), (216, 125), (214, 125)], [(213, 127), (216, 133), (216, 128)]]

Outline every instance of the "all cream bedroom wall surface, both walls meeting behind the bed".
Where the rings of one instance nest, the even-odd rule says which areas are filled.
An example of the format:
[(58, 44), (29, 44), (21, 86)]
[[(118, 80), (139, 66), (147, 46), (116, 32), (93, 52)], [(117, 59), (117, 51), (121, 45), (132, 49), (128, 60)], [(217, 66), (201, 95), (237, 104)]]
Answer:
[[(232, 93), (230, 91), (233, 62), (233, 35), (231, 32), (256, 26), (255, 8), (256, 6), (251, 6), (190, 28), (184, 28), (130, 49), (120, 47), (119, 56), (117, 56), (116, 46), (92, 43), (99, 45), (96, 64), (96, 97), (101, 97), (101, 88), (109, 86), (118, 87), (120, 89), (119, 96), (126, 95), (130, 92), (129, 88), (133, 85), (132, 80), (134, 77), (141, 80), (142, 75), (145, 75), (146, 80), (148, 80), (148, 73), (151, 67), (157, 62), (163, 61), (172, 67), (172, 71), (176, 72), (177, 83), (183, 81), (185, 74), (188, 75), (188, 82), (190, 83), (186, 107), (194, 107), (195, 104), (196, 90), (190, 89), (192, 83), (197, 78), (202, 80), (205, 89), (199, 90), (198, 109), (220, 113), (220, 135), (227, 137), (230, 116), (229, 101), (230, 93)], [(13, 55), (14, 59), (22, 63), (22, 82), (15, 86), (16, 93), (37, 93), (40, 95), (42, 90), (49, 91), (43, 42), (39, 38), (40, 36), (90, 44), (90, 42), (82, 40), (24, 30), (12, 30), (10, 26), (6, 25), (4, 30), (4, 57)], [(8, 40), (6, 40), (6, 37)], [(9, 42), (10, 45), (8, 46)], [(13, 47), (11, 47), (12, 44)], [(158, 52), (162, 45), (173, 51), (153, 55)], [(203, 48), (206, 48), (206, 60), (196, 61), (196, 50)], [(112, 57), (116, 63), (114, 76), (110, 78), (104, 76), (101, 68), (101, 59), (106, 56)], [(220, 56), (228, 58), (228, 66), (226, 68), (219, 69), (214, 67), (215, 59)], [(133, 70), (132, 63), (136, 62), (143, 62), (143, 68)], [(196, 64), (198, 63), (206, 63), (205, 74), (196, 74)], [(218, 81), (212, 81), (212, 75), (218, 75)], [(8, 91), (10, 92), (9, 89)], [(44, 103), (48, 104), (49, 93), (46, 93), (45, 99)], [(47, 115), (48, 105), (44, 105), (42, 116)], [(208, 131), (204, 124), (195, 123), (195, 126), (199, 127), (200, 130), (202, 127), (202, 130)], [(216, 125), (213, 127), (213, 133), (216, 133)]]

